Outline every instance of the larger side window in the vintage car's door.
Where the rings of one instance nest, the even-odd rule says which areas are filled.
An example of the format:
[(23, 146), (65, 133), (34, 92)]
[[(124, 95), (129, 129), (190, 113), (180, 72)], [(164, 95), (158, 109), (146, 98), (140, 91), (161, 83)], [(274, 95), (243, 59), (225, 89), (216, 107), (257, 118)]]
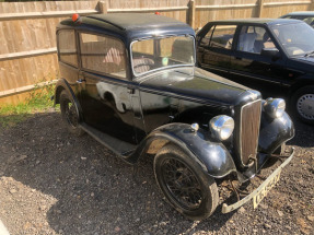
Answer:
[(121, 40), (80, 33), (80, 48), (84, 69), (126, 79), (126, 49)]

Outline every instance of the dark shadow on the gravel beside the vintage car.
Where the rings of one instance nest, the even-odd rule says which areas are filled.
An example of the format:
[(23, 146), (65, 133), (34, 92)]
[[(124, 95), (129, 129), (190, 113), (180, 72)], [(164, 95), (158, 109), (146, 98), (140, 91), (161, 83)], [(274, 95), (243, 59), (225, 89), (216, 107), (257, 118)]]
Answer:
[(219, 208), (207, 221), (186, 220), (165, 203), (151, 157), (128, 165), (88, 134), (69, 134), (57, 113), (37, 114), (1, 130), (0, 141), (2, 176), (57, 199), (45, 219), (55, 233), (214, 232), (233, 215)]

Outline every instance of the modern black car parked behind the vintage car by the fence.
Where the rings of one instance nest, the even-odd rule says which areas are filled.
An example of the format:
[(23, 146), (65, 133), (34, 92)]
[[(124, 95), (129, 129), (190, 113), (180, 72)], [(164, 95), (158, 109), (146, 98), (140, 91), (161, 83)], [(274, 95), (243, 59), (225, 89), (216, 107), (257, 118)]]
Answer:
[(286, 98), (307, 124), (314, 124), (313, 57), (314, 31), (296, 20), (216, 21), (197, 34), (199, 67)]

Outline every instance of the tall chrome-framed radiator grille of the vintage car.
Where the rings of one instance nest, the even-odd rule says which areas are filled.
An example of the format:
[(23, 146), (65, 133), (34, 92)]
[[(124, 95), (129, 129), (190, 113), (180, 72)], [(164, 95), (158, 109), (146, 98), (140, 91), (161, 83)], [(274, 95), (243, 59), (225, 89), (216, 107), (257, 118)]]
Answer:
[(242, 163), (247, 165), (249, 157), (256, 157), (261, 101), (244, 105), (241, 109), (240, 155)]

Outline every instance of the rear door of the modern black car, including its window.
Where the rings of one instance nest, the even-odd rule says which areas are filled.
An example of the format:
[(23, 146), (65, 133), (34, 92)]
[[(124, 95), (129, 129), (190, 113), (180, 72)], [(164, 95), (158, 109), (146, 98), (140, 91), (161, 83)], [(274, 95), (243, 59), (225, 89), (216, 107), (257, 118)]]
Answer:
[(198, 64), (208, 71), (229, 77), (230, 57), (236, 25), (212, 25), (198, 38)]

